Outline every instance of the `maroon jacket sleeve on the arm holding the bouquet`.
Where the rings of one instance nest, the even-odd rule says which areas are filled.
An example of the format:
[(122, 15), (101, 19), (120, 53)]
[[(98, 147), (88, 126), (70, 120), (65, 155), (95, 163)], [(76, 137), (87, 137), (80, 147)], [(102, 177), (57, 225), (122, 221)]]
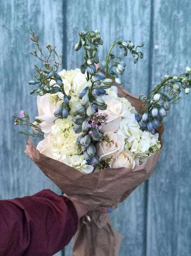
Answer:
[(72, 202), (51, 190), (0, 201), (0, 255), (52, 256), (78, 227)]

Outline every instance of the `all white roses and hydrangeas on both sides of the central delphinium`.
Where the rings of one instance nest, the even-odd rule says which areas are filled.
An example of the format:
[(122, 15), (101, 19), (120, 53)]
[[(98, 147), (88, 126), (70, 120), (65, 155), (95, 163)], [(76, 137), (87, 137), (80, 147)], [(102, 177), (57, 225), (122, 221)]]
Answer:
[[(84, 159), (81, 145), (77, 144), (77, 137), (73, 131), (73, 117), (75, 110), (81, 106), (79, 95), (88, 86), (86, 76), (80, 69), (62, 70), (59, 75), (65, 86), (65, 92), (71, 96), (70, 112), (67, 118), (55, 120), (54, 112), (63, 103), (63, 94), (45, 94), (37, 96), (37, 117), (41, 123), (39, 128), (44, 132), (44, 140), (40, 141), (37, 149), (40, 153), (58, 161), (66, 163), (83, 173), (94, 170)], [(106, 89), (103, 95), (107, 109), (98, 112), (108, 114), (107, 124), (102, 124), (100, 132), (107, 135), (111, 143), (105, 141), (96, 143), (96, 154), (100, 161), (105, 161), (113, 156), (110, 162), (111, 168), (126, 167), (132, 169), (155, 153), (160, 147), (158, 134), (152, 135), (149, 131), (142, 131), (135, 119), (135, 108), (125, 98), (119, 98), (117, 88), (112, 86)], [(37, 124), (36, 124), (37, 125)]]

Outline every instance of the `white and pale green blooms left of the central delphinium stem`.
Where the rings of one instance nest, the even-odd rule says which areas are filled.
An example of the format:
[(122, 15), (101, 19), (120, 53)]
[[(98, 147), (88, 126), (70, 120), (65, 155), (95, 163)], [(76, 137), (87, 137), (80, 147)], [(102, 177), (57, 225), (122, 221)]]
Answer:
[(38, 143), (37, 149), (48, 157), (66, 163), (84, 173), (90, 173), (94, 167), (87, 165), (87, 161), (84, 160), (83, 149), (76, 142), (79, 134), (73, 131), (72, 120), (76, 116), (75, 109), (81, 105), (79, 95), (87, 86), (86, 76), (81, 73), (80, 69), (62, 70), (59, 75), (65, 85), (66, 94), (71, 96), (71, 111), (67, 118), (57, 119), (54, 122), (54, 112), (63, 102), (64, 95), (59, 92), (37, 96), (39, 116), (36, 118), (42, 121), (39, 127), (44, 132), (44, 140)]

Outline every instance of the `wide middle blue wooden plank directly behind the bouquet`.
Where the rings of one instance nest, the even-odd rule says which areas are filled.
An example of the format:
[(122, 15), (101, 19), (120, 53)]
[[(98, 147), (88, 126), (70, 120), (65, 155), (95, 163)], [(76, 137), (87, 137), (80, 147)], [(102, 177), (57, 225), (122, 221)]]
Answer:
[[(77, 11), (76, 11), (77, 10)], [(147, 93), (149, 84), (149, 40), (151, 1), (75, 0), (65, 1), (64, 14), (65, 67), (74, 69), (83, 62), (82, 51), (75, 52), (78, 33), (85, 30), (100, 31), (104, 44), (99, 46), (100, 60), (105, 58), (115, 40), (132, 40), (135, 45), (144, 44), (144, 58), (136, 65), (128, 56), (122, 85), (134, 95)], [(117, 52), (118, 48), (116, 48)], [(122, 55), (121, 55), (122, 57)], [(120, 255), (145, 255), (147, 183), (137, 188), (117, 210), (110, 214), (114, 228), (123, 234)], [(72, 242), (65, 248), (72, 255)]]

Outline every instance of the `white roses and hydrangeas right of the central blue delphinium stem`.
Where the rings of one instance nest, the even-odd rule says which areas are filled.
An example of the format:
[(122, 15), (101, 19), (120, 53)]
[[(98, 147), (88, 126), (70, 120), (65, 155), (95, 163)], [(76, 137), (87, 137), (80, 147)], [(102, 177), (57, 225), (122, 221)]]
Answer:
[(102, 125), (101, 132), (107, 135), (112, 143), (99, 142), (96, 144), (96, 153), (100, 160), (106, 160), (113, 155), (111, 168), (126, 167), (133, 169), (145, 163), (149, 156), (156, 153), (161, 147), (158, 134), (152, 135), (149, 131), (142, 131), (135, 119), (135, 108), (126, 98), (119, 98), (116, 87), (106, 90), (108, 95), (103, 96), (107, 109), (100, 111), (109, 116), (108, 124)]

